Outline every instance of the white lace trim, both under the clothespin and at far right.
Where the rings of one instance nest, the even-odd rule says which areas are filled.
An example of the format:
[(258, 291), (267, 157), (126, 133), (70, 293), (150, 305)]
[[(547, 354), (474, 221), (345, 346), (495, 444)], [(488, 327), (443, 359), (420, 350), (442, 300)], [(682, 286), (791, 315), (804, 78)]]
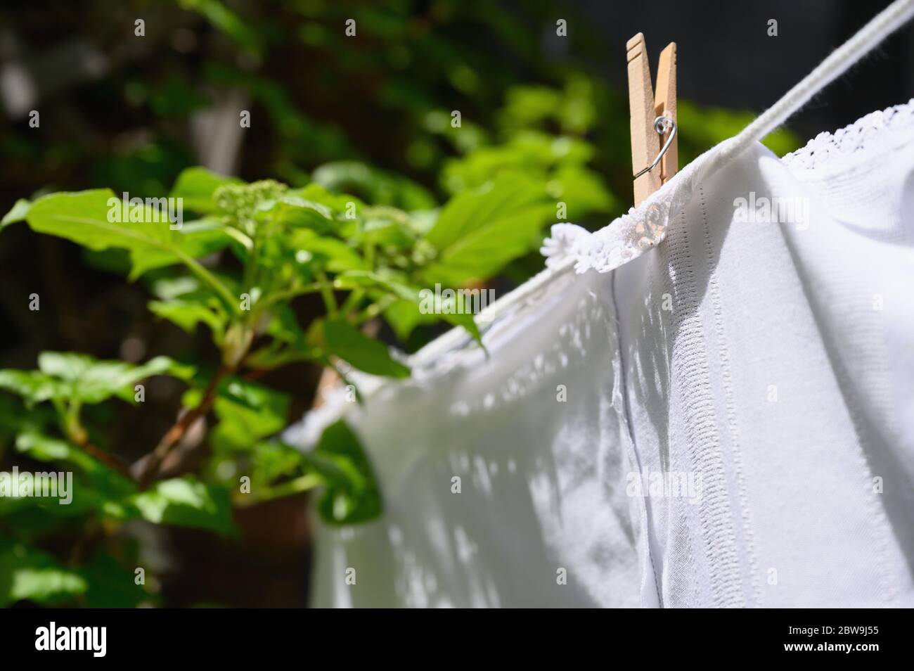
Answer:
[[(836, 160), (840, 157), (853, 156), (856, 160), (865, 149), (902, 142), (898, 131), (909, 127), (914, 128), (914, 99), (882, 112), (866, 114), (834, 133), (819, 133), (802, 149), (787, 154), (781, 161), (796, 172), (826, 164), (830, 167), (840, 165), (842, 162)], [(639, 208), (630, 209), (596, 232), (591, 233), (575, 224), (554, 224), (540, 249), (547, 266), (560, 266), (570, 258), (575, 261), (575, 272), (610, 272), (656, 247), (692, 198), (694, 185), (727, 162), (728, 149), (734, 148), (736, 141), (737, 138), (730, 138), (709, 149)]]

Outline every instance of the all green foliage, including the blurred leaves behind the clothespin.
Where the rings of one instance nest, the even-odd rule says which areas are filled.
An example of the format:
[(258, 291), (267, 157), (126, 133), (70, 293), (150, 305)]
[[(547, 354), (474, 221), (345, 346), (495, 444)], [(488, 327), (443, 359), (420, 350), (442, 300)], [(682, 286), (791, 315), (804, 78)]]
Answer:
[[(218, 12), (209, 14), (218, 4), (192, 5), (219, 23)], [(224, 69), (207, 71), (214, 80), (235, 82)], [(462, 79), (468, 77), (464, 72)], [(154, 599), (133, 580), (138, 551), (122, 533), (133, 520), (230, 537), (233, 507), (314, 488), (323, 490), (316, 508), (330, 524), (377, 517), (383, 493), (354, 431), (337, 421), (307, 453), (282, 442), (277, 436), (290, 421), (293, 399), (263, 380), (307, 362), (352, 385), (350, 397), (358, 399), (352, 369), (406, 377), (405, 359), (377, 337), (379, 325), (388, 325), (388, 339), (392, 333), (409, 347), (426, 337), (418, 327), (439, 322), (480, 340), (458, 298), (423, 312), (422, 289), (458, 288), (496, 274), (523, 281), (542, 267), (530, 252), (548, 223), (599, 227), (628, 200), (627, 102), (584, 76), (565, 78), (560, 89), (508, 88), (492, 130), (472, 111), (454, 125), (452, 111), (410, 98), (415, 134), (403, 155), (438, 176), (447, 195), (441, 206), (430, 188), (363, 161), (336, 160), (303, 172), (297, 165), (304, 155), (360, 154), (310, 126), (279, 85), (242, 79), (282, 129), (271, 174), (292, 186), (246, 184), (189, 168), (169, 193), (174, 201), (168, 202), (180, 199), (183, 210), (197, 215), (182, 216), (180, 227), (161, 217), (157, 201), (124, 207), (108, 189), (20, 199), (0, 220), (0, 229), (27, 221), (39, 233), (80, 245), (90, 265), (122, 269), (147, 293), (150, 314), (207, 334), (206, 347), (141, 365), (44, 352), (36, 370), (0, 370), (0, 389), (8, 392), (0, 394), (0, 463), (72, 471), (77, 491), (69, 506), (0, 497), (0, 604)], [(168, 85), (176, 87), (172, 97), (205, 106), (179, 84)], [(686, 117), (707, 116), (700, 126), (706, 135), (684, 134), (685, 158), (748, 119), (708, 114), (685, 101), (680, 112), (690, 128), (699, 124)], [(154, 179), (114, 162), (97, 181), (142, 184), (143, 196), (158, 195), (162, 179), (175, 175), (175, 157), (153, 145), (141, 154)], [(308, 310), (297, 309), (303, 302)], [(122, 449), (113, 420), (125, 403), (144, 407), (151, 376), (185, 388), (181, 410), (160, 438), (142, 445), (142, 458), (126, 463), (124, 453), (136, 451)], [(195, 438), (201, 426), (207, 430)]]

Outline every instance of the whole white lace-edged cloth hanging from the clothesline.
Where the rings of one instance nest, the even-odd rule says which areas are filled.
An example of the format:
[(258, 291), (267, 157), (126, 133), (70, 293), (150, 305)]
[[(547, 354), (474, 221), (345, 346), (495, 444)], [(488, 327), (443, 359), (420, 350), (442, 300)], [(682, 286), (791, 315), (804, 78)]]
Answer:
[[(550, 263), (585, 272), (490, 357), (346, 408), (386, 513), (319, 527), (314, 604), (914, 606), (912, 120), (753, 146), (655, 199), (663, 244), (609, 272), (556, 227)], [(694, 486), (633, 495), (645, 473)]]

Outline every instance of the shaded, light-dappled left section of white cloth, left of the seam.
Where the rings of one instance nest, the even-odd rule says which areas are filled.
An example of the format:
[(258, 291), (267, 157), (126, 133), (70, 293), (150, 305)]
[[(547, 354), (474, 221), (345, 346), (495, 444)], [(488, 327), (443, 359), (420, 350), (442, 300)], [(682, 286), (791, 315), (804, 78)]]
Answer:
[[(596, 274), (554, 286), (486, 337), (490, 358), (462, 352), (349, 414), (386, 510), (377, 523), (320, 529), (315, 604), (640, 603), (643, 523), (622, 482), (627, 439), (605, 287)], [(557, 402), (559, 384), (568, 402)], [(568, 585), (557, 584), (559, 568)]]

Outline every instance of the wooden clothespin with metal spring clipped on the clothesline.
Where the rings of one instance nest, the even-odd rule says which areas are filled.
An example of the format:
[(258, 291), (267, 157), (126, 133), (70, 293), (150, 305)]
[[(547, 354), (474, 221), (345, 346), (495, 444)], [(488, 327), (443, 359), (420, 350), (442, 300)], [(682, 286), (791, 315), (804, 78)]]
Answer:
[[(660, 54), (656, 97), (651, 86), (651, 68), (643, 34), (632, 37), (625, 48), (628, 51), (629, 110), (632, 117), (634, 207), (637, 208), (645, 198), (669, 181), (679, 167), (675, 125), (676, 45), (670, 42)], [(672, 124), (661, 121), (660, 117), (672, 121)], [(661, 140), (664, 138), (662, 149)], [(652, 165), (653, 168), (650, 167)]]

